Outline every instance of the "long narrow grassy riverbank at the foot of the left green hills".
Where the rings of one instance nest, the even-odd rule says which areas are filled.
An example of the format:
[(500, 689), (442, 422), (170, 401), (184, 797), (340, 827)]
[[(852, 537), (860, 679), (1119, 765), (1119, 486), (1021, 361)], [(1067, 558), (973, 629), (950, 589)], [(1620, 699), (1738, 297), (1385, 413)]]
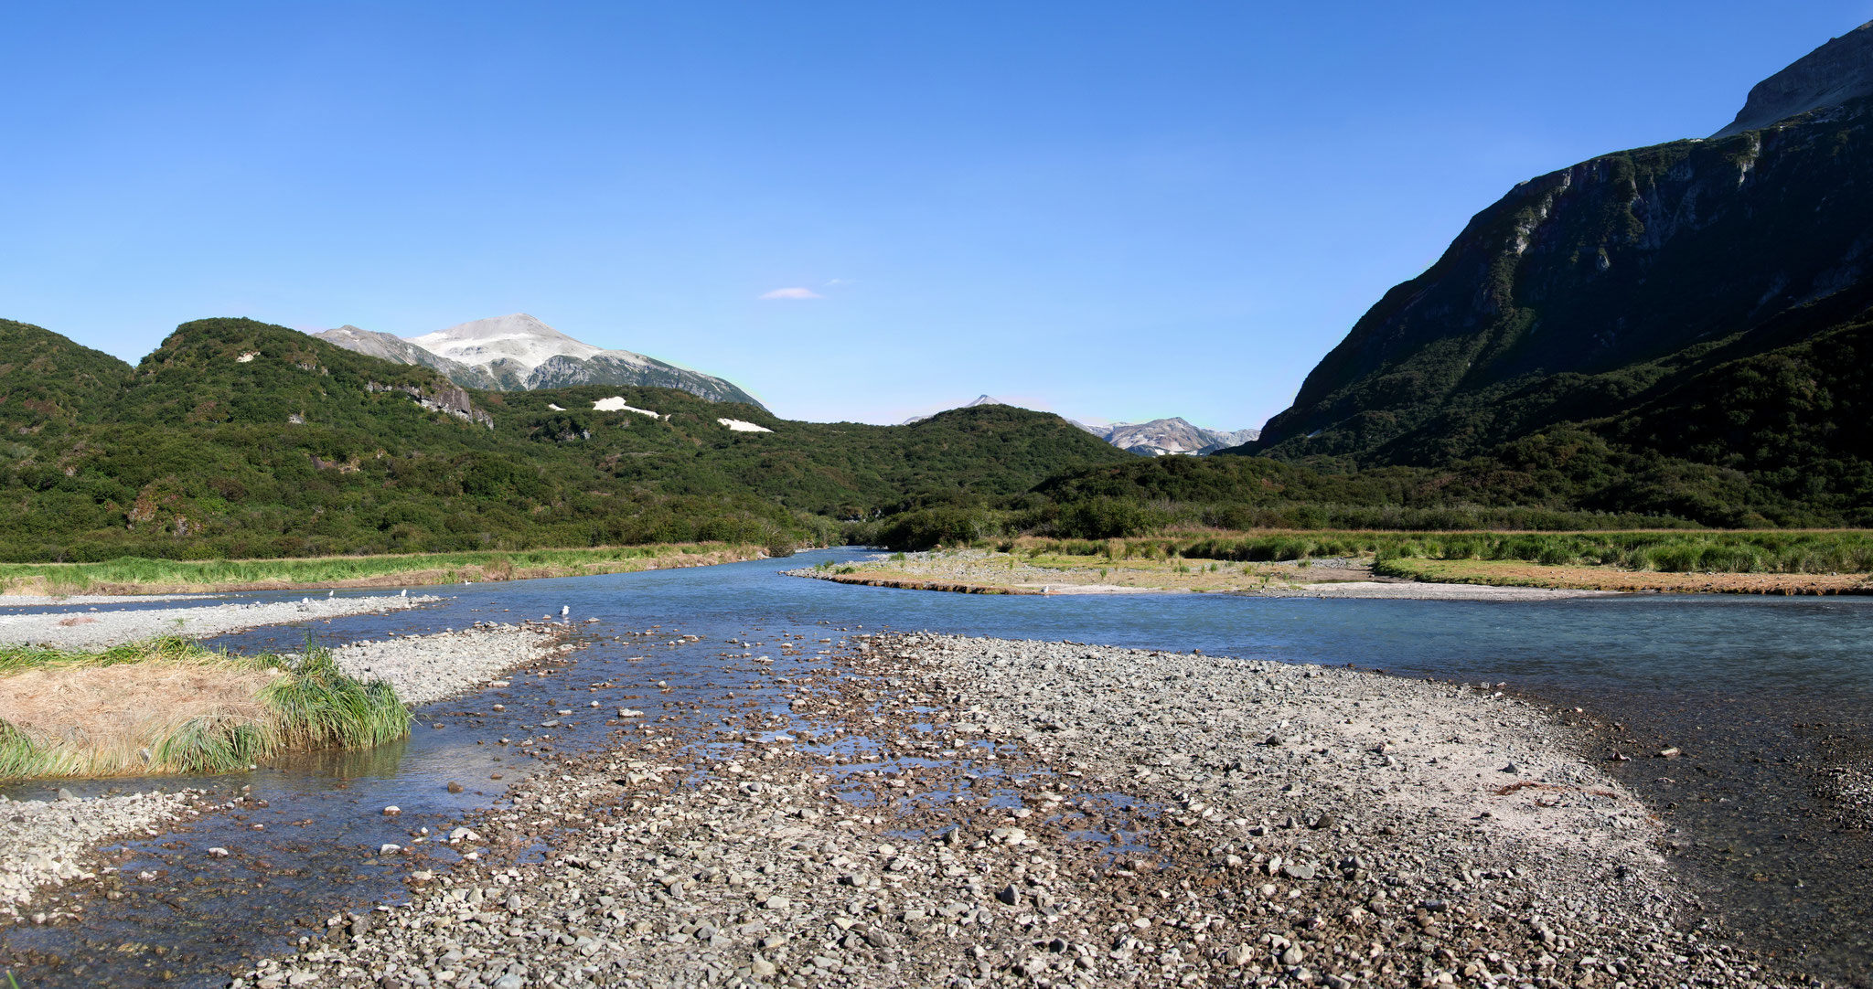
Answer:
[(517, 553), (416, 553), (287, 560), (148, 560), (0, 564), (0, 594), (202, 594), (347, 586), (421, 586), (463, 581), (583, 577), (755, 560), (753, 543), (657, 543)]

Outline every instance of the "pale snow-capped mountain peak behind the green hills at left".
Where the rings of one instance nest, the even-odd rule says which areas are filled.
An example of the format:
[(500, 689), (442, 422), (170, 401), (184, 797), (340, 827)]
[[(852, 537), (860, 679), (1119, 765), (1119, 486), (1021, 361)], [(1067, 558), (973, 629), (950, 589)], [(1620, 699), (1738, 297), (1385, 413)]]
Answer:
[(631, 350), (592, 347), (526, 313), (470, 320), (420, 337), (393, 337), (356, 326), (313, 335), (373, 358), (435, 367), (468, 388), (521, 391), (569, 384), (637, 384), (760, 406), (732, 382)]

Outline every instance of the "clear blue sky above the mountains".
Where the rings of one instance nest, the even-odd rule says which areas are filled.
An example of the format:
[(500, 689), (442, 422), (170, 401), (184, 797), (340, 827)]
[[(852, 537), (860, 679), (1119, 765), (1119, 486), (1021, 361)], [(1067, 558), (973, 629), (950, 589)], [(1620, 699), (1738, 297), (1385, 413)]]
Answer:
[(1869, 17), (7, 4), (0, 317), (135, 362), (526, 311), (789, 418), (1261, 425), (1515, 182), (1706, 135)]

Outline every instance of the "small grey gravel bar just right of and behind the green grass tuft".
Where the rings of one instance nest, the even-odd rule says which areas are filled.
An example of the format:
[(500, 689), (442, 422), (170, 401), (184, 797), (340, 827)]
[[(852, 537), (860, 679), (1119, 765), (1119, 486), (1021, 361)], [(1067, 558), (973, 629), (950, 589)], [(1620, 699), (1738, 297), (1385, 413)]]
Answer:
[(519, 665), (577, 648), (569, 626), (549, 622), (478, 622), (459, 631), (408, 639), (365, 639), (332, 650), (339, 669), (358, 680), (386, 680), (405, 704), (418, 708), (474, 691)]

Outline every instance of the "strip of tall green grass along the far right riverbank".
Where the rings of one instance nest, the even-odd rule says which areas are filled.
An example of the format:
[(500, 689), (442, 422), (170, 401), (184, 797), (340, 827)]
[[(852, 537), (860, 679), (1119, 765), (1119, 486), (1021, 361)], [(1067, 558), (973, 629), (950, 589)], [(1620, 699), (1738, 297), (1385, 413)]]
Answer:
[(1673, 573), (1873, 573), (1873, 530), (1740, 532), (1281, 532), (1054, 539), (1047, 553), (1285, 562), (1320, 556), (1521, 560)]

